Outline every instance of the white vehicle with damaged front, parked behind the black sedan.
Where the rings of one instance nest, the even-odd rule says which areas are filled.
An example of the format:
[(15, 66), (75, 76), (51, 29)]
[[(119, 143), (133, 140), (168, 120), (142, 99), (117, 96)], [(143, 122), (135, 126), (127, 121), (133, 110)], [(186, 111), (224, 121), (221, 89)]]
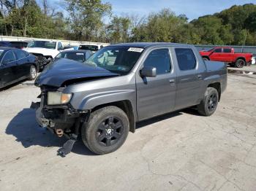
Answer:
[(39, 69), (43, 69), (61, 50), (64, 50), (64, 46), (60, 41), (34, 40), (24, 50), (37, 56)]

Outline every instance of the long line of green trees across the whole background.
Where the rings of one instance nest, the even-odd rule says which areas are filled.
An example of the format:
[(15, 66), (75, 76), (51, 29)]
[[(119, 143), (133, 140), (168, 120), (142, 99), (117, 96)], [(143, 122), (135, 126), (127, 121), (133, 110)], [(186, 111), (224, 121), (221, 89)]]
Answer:
[(65, 0), (69, 15), (64, 17), (54, 8), (49, 14), (49, 7), (39, 7), (37, 1), (0, 0), (0, 34), (110, 43), (256, 44), (255, 4), (233, 6), (189, 22), (186, 15), (170, 9), (147, 17), (112, 16), (111, 4), (101, 0)]

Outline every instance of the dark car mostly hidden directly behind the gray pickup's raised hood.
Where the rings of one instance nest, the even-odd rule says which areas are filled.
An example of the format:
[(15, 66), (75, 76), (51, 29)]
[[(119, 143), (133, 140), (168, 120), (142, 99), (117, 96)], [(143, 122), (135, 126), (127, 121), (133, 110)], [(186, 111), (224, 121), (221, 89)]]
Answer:
[(86, 61), (93, 53), (91, 50), (64, 50), (56, 56), (56, 58), (67, 58), (69, 60), (84, 62)]

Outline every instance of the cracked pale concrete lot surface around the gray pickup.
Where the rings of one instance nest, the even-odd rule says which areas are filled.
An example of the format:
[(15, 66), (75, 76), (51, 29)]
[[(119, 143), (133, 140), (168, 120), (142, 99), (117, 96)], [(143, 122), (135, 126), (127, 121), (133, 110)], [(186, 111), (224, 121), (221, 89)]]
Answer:
[(194, 109), (140, 122), (109, 155), (64, 144), (39, 128), (32, 82), (0, 92), (1, 190), (255, 190), (256, 75), (228, 76), (217, 112)]

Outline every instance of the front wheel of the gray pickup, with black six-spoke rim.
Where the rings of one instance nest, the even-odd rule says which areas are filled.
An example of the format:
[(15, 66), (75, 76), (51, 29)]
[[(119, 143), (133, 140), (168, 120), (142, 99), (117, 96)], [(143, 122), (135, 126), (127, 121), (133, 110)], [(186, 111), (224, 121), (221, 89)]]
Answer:
[(128, 133), (127, 114), (116, 106), (106, 106), (90, 114), (88, 122), (82, 126), (81, 135), (91, 152), (105, 155), (121, 147)]

